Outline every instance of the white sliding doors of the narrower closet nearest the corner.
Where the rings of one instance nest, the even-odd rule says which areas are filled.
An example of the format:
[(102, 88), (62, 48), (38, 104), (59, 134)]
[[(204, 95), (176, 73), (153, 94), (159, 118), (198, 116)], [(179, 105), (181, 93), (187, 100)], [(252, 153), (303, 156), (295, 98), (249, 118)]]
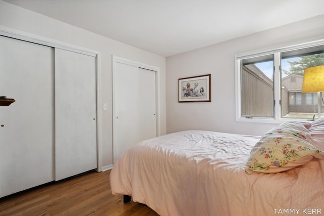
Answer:
[(156, 136), (155, 73), (136, 66), (115, 63), (114, 162), (135, 143)]

